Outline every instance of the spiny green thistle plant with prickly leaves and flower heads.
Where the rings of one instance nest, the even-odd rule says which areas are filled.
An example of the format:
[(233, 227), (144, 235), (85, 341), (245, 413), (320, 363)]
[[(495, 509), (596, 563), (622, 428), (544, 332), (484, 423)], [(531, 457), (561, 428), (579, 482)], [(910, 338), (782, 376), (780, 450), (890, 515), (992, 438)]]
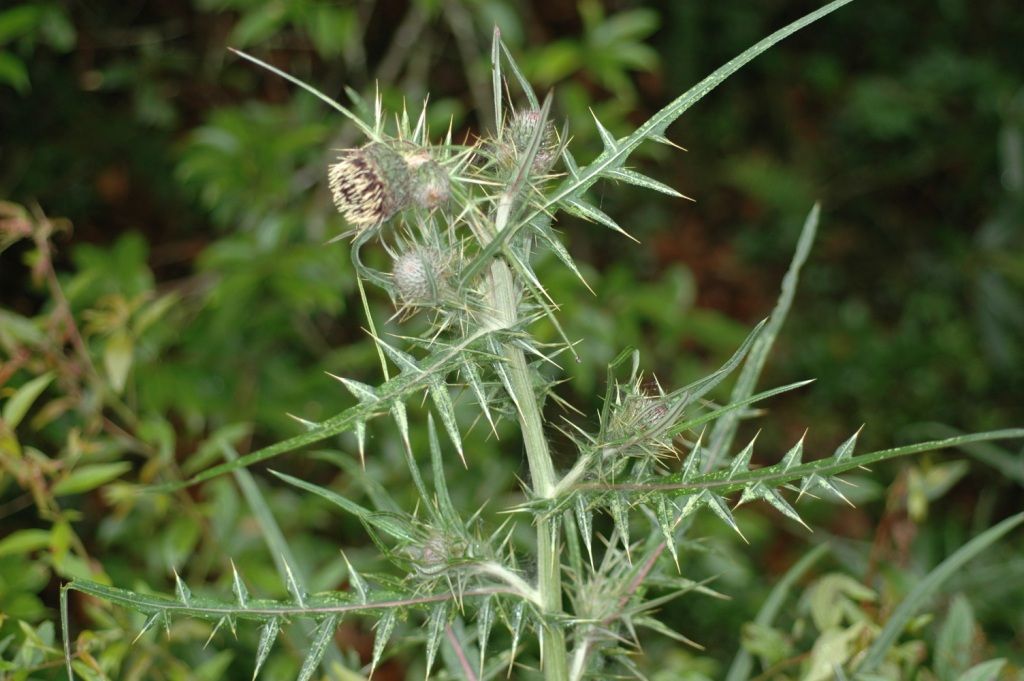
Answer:
[[(379, 385), (336, 377), (355, 406), (322, 422), (304, 422), (305, 432), (247, 456), (227, 450), (226, 463), (161, 490), (230, 472), (242, 475), (240, 481), (250, 480), (249, 486), (243, 483), (249, 497), (248, 466), (343, 432), (354, 434), (357, 456), (366, 460), (374, 456), (368, 423), (390, 419), (403, 444), (418, 503), (402, 508), (378, 490), (377, 506), (370, 508), (333, 490), (274, 473), (283, 483), (355, 516), (392, 569), (364, 574), (342, 554), (350, 590), (308, 594), (283, 547), (282, 574), (291, 597), (280, 601), (251, 596), (233, 564), (233, 593), (221, 599), (194, 596), (176, 576), (173, 597), (72, 582), (61, 590), (69, 676), (74, 678), (68, 599), (77, 591), (144, 613), (143, 631), (169, 627), (174, 618), (210, 621), (215, 634), (254, 623), (260, 628), (254, 678), (281, 633), (297, 623), (305, 623), (302, 632), (308, 637), (299, 679), (312, 678), (322, 667), (333, 673), (336, 668), (325, 661), (347, 616), (371, 622), (375, 642), (369, 664), (346, 672), (345, 678), (372, 675), (398, 632), (422, 644), (428, 676), (436, 673), (445, 646), (447, 678), (640, 677), (639, 630), (699, 645), (699, 632), (672, 631), (656, 615), (669, 600), (717, 595), (680, 568), (681, 555), (699, 539), (694, 536), (697, 514), (710, 512), (741, 536), (733, 509), (760, 500), (787, 521), (803, 524), (796, 501), (814, 495), (845, 499), (839, 476), (846, 471), (976, 440), (1024, 436), (1022, 430), (996, 431), (856, 455), (853, 433), (830, 456), (805, 456), (801, 439), (778, 453), (777, 463), (752, 468), (754, 441), (734, 442), (740, 420), (751, 416), (752, 406), (807, 383), (760, 392), (755, 387), (788, 311), (817, 228), (818, 207), (804, 224), (775, 310), (722, 367), (689, 385), (663, 386), (643, 371), (642, 357), (625, 351), (608, 368), (596, 418), (547, 420), (545, 403), (558, 400), (552, 390), (560, 380), (558, 363), (573, 354), (574, 341), (561, 331), (558, 301), (549, 296), (535, 262), (550, 253), (580, 275), (555, 229), (558, 215), (568, 213), (627, 235), (588, 199), (595, 183), (611, 180), (682, 197), (630, 169), (631, 154), (648, 141), (671, 144), (667, 128), (690, 105), (774, 43), (847, 2), (831, 2), (772, 34), (626, 137), (616, 138), (595, 120), (604, 150), (586, 165), (569, 148), (571, 131), (552, 120), (552, 96), (542, 100), (536, 95), (497, 31), (492, 47), (494, 132), (461, 143), (451, 130), (443, 139), (432, 139), (425, 108), (418, 116), (402, 111), (393, 121), (379, 100), (350, 111), (240, 53), (321, 97), (365, 135), (364, 144), (341, 152), (327, 173), (335, 207), (349, 225), (342, 236), (351, 238), (348, 248), (360, 291), (364, 283), (381, 288), (393, 301), (396, 317), (417, 317), (419, 326), (409, 337), (384, 337), (364, 295), (368, 329), (380, 354)], [(371, 249), (390, 259), (388, 269), (367, 264), (364, 251)], [(535, 337), (535, 324), (542, 320), (559, 333), (560, 342), (552, 345)], [(738, 377), (730, 399), (710, 402), (711, 391), (734, 374)], [(414, 448), (407, 410), (421, 396), (436, 415), (436, 423), (433, 415), (428, 417), (427, 451)], [(489, 512), (495, 509), (483, 514), (457, 508), (446, 486), (450, 467), (474, 465), (463, 445), (467, 424), (457, 414), (460, 400), (475, 405), (485, 427), (497, 432), (499, 422), (508, 420), (520, 434), (528, 469), (522, 495), (510, 508), (498, 509), (503, 513), (497, 520)], [(573, 463), (565, 470), (556, 468), (552, 458), (555, 428), (566, 436), (559, 441), (573, 449)], [(423, 468), (431, 473), (430, 485)], [(258, 506), (258, 493), (250, 501)], [(956, 556), (959, 564), (1021, 521), (1021, 516), (1011, 518), (965, 547)], [(517, 539), (524, 528), (534, 537), (531, 543)], [(910, 606), (894, 615), (897, 633), (905, 624), (898, 618), (912, 613)], [(839, 662), (837, 674), (844, 673), (844, 666), (862, 675), (876, 672), (893, 640), (888, 630), (877, 633), (863, 654)], [(740, 654), (730, 679), (746, 678), (750, 669), (751, 661)]]

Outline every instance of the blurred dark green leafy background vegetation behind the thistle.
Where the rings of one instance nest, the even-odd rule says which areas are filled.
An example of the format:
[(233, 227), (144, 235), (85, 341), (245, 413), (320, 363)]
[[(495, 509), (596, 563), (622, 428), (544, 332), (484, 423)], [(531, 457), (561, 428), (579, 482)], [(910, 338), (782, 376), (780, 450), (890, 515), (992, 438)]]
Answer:
[[(670, 133), (689, 152), (646, 150), (642, 170), (696, 203), (607, 191), (602, 209), (642, 242), (628, 248), (607, 230), (562, 224), (597, 292), (584, 295), (551, 263), (546, 281), (565, 303), (566, 331), (585, 339), (562, 396), (594, 414), (604, 367), (625, 345), (641, 348), (666, 384), (720, 364), (770, 311), (803, 216), (820, 199), (820, 236), (766, 385), (818, 381), (771, 402), (766, 456), (807, 424), (809, 452), (822, 453), (861, 423), (871, 449), (1021, 425), (1024, 14), (1015, 5), (858, 0), (687, 113)], [(400, 109), (429, 91), (432, 127), (452, 120), (458, 136), (487, 125), (486, 39), (498, 25), (531, 81), (557, 89), (578, 147), (596, 151), (591, 110), (623, 133), (811, 6), (5, 4), (0, 661), (57, 676), (57, 585), (74, 577), (166, 592), (174, 568), (194, 588), (228, 593), (231, 558), (253, 591), (280, 595), (274, 552), (239, 481), (173, 496), (134, 490), (217, 462), (222, 441), (245, 452), (293, 434), (289, 414), (339, 411), (349, 398), (325, 372), (373, 382), (347, 252), (323, 248), (344, 228), (325, 167), (332, 150), (360, 140), (227, 45), (342, 99), (345, 86), (371, 95), (379, 84)], [(374, 302), (386, 318), (387, 301)], [(470, 500), (514, 494), (517, 443), (474, 434), (470, 470), (450, 485)], [(400, 486), (395, 435), (372, 435), (365, 474), (349, 440), (273, 466), (353, 498), (372, 494), (366, 480)], [(814, 539), (841, 547), (835, 565), (880, 600), (840, 588), (828, 598), (884, 616), (916, 576), (1019, 510), (1015, 446), (887, 466), (858, 480), (857, 509), (809, 507)], [(358, 524), (253, 472), (310, 590), (343, 588), (337, 548), (361, 541)], [(739, 515), (749, 548), (723, 539), (690, 558), (692, 572), (717, 576), (734, 599), (668, 618), (708, 649), (652, 655), (664, 678), (720, 678), (741, 624), (806, 551), (799, 528), (757, 508)], [(911, 638), (936, 640), (942, 623), (970, 622), (947, 613), (969, 608), (980, 623), (972, 654), (1024, 664), (1021, 548), (1011, 539), (965, 570)], [(182, 624), (171, 644), (150, 633), (132, 647), (141, 622), (88, 600), (73, 619), (95, 639), (94, 659), (83, 661), (95, 678), (216, 679), (225, 669), (224, 678), (246, 678), (255, 646), (240, 630), (239, 642), (204, 650), (209, 631)], [(346, 624), (340, 647), (365, 662), (371, 640)], [(282, 674), (296, 664), (287, 650), (268, 663)], [(381, 673), (403, 678), (417, 664), (398, 655)]]

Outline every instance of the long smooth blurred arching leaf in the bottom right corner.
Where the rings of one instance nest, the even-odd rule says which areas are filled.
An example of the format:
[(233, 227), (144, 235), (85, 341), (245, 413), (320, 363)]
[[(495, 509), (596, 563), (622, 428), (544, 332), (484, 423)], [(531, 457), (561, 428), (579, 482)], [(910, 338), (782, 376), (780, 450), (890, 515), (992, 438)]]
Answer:
[(904, 627), (906, 627), (910, 618), (938, 592), (946, 580), (962, 570), (971, 560), (984, 553), (989, 547), (1022, 522), (1024, 522), (1024, 513), (1018, 513), (997, 525), (989, 527), (943, 560), (938, 567), (929, 572), (923, 580), (918, 581), (914, 588), (907, 594), (896, 610), (893, 611), (889, 621), (886, 622), (886, 626), (878, 638), (874, 639), (871, 647), (868, 648), (857, 671), (863, 673), (873, 672), (885, 659), (886, 652), (896, 642), (896, 639)]

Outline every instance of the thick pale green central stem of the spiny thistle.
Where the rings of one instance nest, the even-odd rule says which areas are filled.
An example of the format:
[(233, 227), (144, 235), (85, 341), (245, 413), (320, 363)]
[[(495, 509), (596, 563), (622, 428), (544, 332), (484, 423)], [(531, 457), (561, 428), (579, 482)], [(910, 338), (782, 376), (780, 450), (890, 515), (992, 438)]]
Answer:
[[(495, 220), (495, 227), (499, 232), (507, 226), (513, 201), (512, 197), (506, 195), (499, 204)], [(490, 263), (487, 279), (487, 293), (493, 311), (497, 316), (496, 322), (505, 328), (513, 328), (518, 321), (521, 293), (508, 263), (501, 258), (496, 258)], [(548, 440), (544, 436), (541, 406), (534, 392), (526, 356), (520, 348), (511, 343), (504, 345), (503, 356), (506, 361), (511, 396), (516, 403), (519, 416), (519, 427), (522, 430), (523, 443), (526, 449), (526, 461), (529, 464), (534, 496), (548, 499), (554, 494), (558, 480), (555, 476), (554, 465), (551, 463)], [(568, 680), (565, 633), (561, 626), (556, 623), (562, 613), (559, 537), (557, 516), (554, 519), (542, 519), (537, 523), (538, 591), (541, 597), (542, 612), (548, 623), (545, 625), (546, 629), (542, 637), (544, 676), (547, 681)]]

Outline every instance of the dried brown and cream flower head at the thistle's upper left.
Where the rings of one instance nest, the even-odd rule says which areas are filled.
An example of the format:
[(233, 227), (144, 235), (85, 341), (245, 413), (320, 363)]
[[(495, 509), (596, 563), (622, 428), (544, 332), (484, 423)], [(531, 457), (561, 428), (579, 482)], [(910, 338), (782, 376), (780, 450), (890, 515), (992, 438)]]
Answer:
[(409, 204), (409, 164), (380, 142), (343, 154), (328, 169), (328, 179), (338, 212), (357, 230), (383, 222)]

